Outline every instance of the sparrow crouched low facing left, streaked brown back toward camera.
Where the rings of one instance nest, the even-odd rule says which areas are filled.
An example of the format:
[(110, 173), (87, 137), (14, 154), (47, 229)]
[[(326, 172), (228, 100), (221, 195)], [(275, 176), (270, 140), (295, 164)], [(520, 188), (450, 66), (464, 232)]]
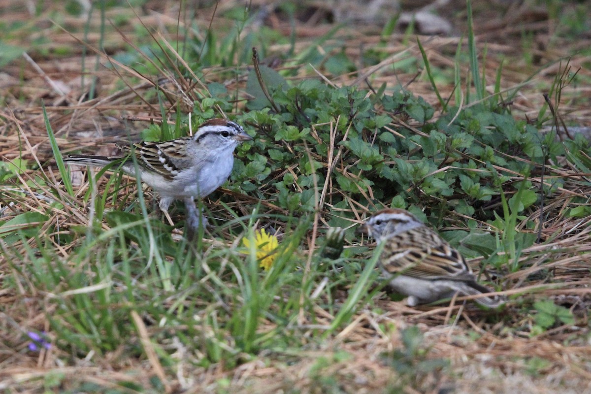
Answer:
[[(384, 209), (372, 215), (362, 231), (384, 243), (379, 262), (382, 272), (391, 278), (390, 286), (408, 295), (414, 307), (439, 299), (491, 292), (476, 282), (472, 269), (460, 253), (439, 234), (403, 209)], [(489, 308), (503, 304), (501, 297), (475, 300)]]

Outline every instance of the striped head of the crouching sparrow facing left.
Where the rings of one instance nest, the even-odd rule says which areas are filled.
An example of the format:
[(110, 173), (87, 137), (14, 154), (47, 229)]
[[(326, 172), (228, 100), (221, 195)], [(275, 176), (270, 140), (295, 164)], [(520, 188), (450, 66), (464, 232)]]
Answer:
[(381, 242), (410, 229), (424, 226), (416, 216), (404, 209), (383, 209), (372, 214), (361, 231)]

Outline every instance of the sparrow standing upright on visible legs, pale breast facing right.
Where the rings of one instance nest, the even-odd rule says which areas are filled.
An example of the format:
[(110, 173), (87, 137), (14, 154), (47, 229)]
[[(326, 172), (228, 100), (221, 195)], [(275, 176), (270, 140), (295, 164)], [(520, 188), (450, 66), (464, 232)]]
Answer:
[(125, 157), (72, 155), (64, 162), (96, 167), (116, 162), (126, 174), (137, 173), (142, 182), (158, 193), (158, 205), (169, 221), (170, 204), (174, 200), (184, 200), (187, 224), (192, 231), (200, 224), (205, 225), (194, 198), (206, 197), (228, 179), (234, 165), (234, 149), (240, 142), (251, 140), (238, 123), (210, 119), (202, 123), (193, 136), (164, 142), (142, 141), (131, 146), (118, 144)]

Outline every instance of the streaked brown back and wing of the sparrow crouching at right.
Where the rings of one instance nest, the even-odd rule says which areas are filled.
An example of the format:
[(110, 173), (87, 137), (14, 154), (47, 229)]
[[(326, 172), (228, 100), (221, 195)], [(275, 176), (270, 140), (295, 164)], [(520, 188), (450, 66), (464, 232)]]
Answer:
[(421, 279), (473, 279), (460, 253), (428, 227), (413, 229), (391, 239), (382, 252), (386, 271)]

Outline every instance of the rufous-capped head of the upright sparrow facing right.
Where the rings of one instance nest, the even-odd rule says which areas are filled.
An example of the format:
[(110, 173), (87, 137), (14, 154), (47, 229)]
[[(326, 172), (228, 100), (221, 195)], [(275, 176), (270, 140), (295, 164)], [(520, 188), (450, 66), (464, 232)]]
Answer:
[(197, 144), (209, 146), (212, 150), (231, 148), (243, 141), (251, 141), (242, 126), (227, 119), (210, 119), (202, 123), (193, 135)]

